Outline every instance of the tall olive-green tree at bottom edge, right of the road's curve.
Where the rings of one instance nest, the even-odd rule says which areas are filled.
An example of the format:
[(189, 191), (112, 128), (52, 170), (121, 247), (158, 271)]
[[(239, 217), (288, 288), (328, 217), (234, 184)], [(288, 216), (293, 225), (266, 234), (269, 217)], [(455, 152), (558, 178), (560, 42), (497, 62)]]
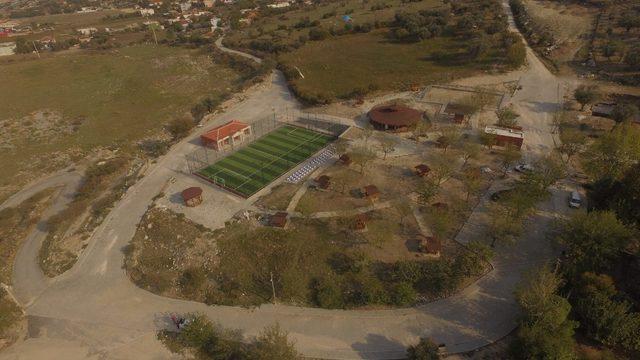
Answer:
[(514, 359), (573, 359), (576, 323), (568, 320), (571, 305), (558, 295), (562, 280), (548, 267), (529, 274), (516, 290), (522, 309), (511, 345)]

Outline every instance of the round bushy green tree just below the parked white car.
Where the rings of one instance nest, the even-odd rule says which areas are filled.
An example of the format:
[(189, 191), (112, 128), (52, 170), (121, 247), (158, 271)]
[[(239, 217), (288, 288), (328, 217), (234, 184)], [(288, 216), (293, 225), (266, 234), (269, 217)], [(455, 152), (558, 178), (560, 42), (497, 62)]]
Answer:
[(562, 222), (556, 240), (566, 246), (568, 279), (584, 272), (604, 272), (620, 258), (633, 232), (610, 211), (578, 213)]

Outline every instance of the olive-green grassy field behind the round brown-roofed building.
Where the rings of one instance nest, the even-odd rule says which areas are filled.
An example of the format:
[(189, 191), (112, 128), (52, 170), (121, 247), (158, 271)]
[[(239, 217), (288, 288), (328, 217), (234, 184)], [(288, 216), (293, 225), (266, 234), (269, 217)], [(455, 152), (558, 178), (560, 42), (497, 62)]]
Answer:
[(310, 42), (280, 61), (302, 72), (304, 79), (292, 81), (300, 92), (341, 98), (358, 89), (406, 90), (412, 84), (447, 83), (499, 62), (497, 51), (472, 64), (434, 59), (443, 51), (462, 56), (467, 45), (449, 38), (397, 43), (384, 31), (375, 31)]

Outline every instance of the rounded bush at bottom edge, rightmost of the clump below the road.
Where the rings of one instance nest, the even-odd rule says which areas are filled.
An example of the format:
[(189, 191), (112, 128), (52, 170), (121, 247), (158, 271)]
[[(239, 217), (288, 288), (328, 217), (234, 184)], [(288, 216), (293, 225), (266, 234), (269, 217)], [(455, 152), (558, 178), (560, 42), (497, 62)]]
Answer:
[(298, 358), (293, 343), (287, 333), (276, 324), (265, 328), (252, 348), (250, 359), (254, 360), (295, 360)]

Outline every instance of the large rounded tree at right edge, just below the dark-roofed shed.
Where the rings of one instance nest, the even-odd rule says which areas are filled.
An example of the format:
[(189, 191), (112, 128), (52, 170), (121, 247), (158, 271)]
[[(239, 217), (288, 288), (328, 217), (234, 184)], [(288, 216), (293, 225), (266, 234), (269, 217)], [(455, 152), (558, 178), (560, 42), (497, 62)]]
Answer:
[(619, 179), (638, 161), (640, 128), (628, 123), (598, 138), (583, 156), (585, 170), (596, 179)]

